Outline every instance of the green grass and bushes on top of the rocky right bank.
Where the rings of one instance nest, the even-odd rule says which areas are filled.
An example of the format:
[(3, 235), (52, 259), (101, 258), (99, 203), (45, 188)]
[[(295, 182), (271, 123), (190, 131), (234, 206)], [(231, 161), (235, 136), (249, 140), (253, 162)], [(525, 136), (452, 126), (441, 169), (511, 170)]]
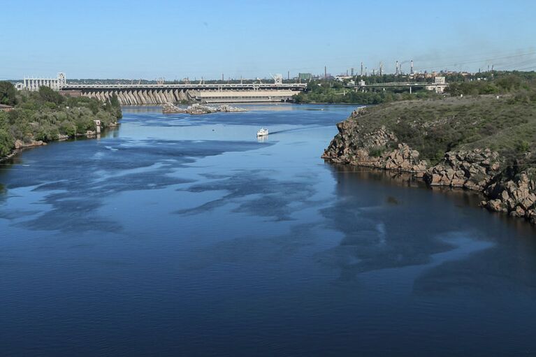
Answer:
[[(368, 107), (356, 120), (367, 131), (386, 126), (401, 142), (418, 150), (422, 159), (432, 163), (450, 150), (488, 147), (509, 161), (533, 165), (536, 163), (536, 76), (533, 74), (508, 73), (485, 82), (464, 82), (451, 87), (451, 96)], [(379, 152), (381, 149), (375, 148), (374, 154)]]

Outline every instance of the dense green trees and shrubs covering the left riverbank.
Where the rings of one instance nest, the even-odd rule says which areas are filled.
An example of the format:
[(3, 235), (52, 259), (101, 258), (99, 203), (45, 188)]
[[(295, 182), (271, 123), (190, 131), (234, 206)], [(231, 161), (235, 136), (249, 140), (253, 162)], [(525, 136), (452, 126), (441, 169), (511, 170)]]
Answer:
[(9, 82), (0, 82), (0, 103), (15, 105), (10, 112), (0, 111), (0, 157), (13, 151), (16, 140), (29, 144), (73, 138), (93, 131), (96, 119), (106, 128), (122, 116), (116, 96), (101, 103), (85, 97), (65, 97), (48, 87), (17, 93)]

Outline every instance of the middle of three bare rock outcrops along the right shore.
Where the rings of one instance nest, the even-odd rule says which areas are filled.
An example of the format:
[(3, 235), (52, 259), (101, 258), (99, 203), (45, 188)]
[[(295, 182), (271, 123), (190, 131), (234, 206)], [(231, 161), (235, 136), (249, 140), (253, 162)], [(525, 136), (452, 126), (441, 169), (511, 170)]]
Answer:
[(424, 180), (430, 186), (483, 191), (493, 177), (500, 173), (500, 167), (499, 154), (489, 149), (447, 152), (442, 163), (426, 171)]

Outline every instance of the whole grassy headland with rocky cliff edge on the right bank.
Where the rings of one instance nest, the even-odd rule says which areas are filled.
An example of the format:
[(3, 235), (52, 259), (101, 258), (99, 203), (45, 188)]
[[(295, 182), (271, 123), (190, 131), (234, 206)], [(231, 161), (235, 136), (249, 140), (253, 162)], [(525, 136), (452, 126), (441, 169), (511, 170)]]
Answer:
[(535, 132), (533, 112), (534, 105), (489, 97), (359, 108), (337, 125), (322, 157), (477, 191), (482, 207), (536, 224), (534, 141), (523, 136)]

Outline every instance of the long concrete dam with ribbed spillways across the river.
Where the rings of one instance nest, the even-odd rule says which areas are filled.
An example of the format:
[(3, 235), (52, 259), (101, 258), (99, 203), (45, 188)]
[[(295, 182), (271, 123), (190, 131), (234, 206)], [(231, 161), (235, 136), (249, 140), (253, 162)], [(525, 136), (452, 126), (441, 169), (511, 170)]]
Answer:
[(281, 82), (264, 84), (155, 84), (155, 85), (76, 85), (68, 83), (62, 92), (73, 92), (101, 101), (117, 95), (122, 105), (164, 104), (180, 101), (203, 103), (288, 101), (307, 88), (306, 84)]

